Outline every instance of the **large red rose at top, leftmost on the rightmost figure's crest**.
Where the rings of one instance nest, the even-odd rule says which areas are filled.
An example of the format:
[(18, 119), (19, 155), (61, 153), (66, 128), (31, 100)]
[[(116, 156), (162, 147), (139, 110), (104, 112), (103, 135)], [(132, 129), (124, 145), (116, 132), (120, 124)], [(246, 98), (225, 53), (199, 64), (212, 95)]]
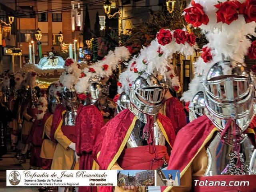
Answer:
[(184, 9), (185, 20), (187, 23), (192, 24), (194, 27), (199, 27), (204, 24), (207, 25), (209, 22), (208, 16), (204, 13), (204, 8), (194, 1), (191, 2), (192, 7)]

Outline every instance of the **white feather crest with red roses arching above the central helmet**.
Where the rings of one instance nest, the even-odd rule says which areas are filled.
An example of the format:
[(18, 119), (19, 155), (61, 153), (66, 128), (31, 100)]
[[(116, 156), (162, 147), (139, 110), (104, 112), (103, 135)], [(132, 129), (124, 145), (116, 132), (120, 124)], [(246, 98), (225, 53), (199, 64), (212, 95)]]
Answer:
[[(167, 34), (169, 37), (168, 41), (162, 38), (162, 34)], [(181, 36), (176, 34), (180, 34)], [(170, 64), (172, 63), (173, 54), (192, 55), (195, 46), (195, 36), (193, 33), (182, 29), (173, 31), (160, 29), (156, 35), (156, 39), (148, 47), (143, 47), (140, 50), (140, 54), (126, 63), (128, 66), (127, 70), (119, 76), (118, 94), (122, 92), (128, 94), (131, 84), (142, 72), (156, 76), (161, 74), (165, 80), (169, 79), (169, 86), (178, 92), (180, 90), (180, 82), (174, 72), (173, 65)]]

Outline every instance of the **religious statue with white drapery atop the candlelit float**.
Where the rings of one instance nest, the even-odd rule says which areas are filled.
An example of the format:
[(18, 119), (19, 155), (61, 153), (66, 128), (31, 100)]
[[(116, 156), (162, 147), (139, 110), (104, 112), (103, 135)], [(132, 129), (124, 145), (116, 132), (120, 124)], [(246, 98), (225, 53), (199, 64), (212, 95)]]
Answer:
[(41, 69), (61, 69), (63, 68), (65, 61), (60, 56), (55, 56), (50, 52), (48, 57), (40, 59), (38, 65)]

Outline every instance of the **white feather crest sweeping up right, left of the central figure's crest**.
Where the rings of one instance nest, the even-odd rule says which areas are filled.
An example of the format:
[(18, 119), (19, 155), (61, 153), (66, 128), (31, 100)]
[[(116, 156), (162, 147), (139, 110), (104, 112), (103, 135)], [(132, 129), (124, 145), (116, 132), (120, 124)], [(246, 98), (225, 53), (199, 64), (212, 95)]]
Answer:
[(126, 47), (116, 47), (114, 51), (109, 51), (101, 61), (97, 61), (93, 65), (82, 70), (80, 78), (75, 85), (76, 92), (86, 93), (89, 86), (89, 78), (98, 75), (102, 78), (112, 75), (112, 71), (116, 70), (118, 63), (127, 61), (130, 58), (129, 49)]

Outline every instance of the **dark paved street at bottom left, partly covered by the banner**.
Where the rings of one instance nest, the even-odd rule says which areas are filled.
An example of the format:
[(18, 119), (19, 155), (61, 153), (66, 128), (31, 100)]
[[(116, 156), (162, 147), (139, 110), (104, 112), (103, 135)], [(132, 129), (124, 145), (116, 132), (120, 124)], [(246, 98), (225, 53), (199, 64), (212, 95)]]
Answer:
[[(10, 149), (10, 146), (8, 146)], [(19, 161), (14, 157), (15, 153), (8, 150), (8, 154), (2, 157), (0, 161), (0, 192), (38, 192), (37, 188), (32, 187), (6, 187), (6, 170), (13, 169), (28, 169), (29, 160), (26, 163), (20, 164)]]

